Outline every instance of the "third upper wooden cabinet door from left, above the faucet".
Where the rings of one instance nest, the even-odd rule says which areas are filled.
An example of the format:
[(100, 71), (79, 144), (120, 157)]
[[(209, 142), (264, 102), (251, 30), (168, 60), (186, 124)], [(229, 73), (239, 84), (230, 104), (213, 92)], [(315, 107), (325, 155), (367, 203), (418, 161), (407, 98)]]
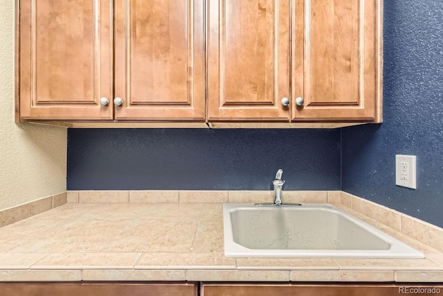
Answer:
[(208, 120), (289, 121), (289, 0), (209, 0)]

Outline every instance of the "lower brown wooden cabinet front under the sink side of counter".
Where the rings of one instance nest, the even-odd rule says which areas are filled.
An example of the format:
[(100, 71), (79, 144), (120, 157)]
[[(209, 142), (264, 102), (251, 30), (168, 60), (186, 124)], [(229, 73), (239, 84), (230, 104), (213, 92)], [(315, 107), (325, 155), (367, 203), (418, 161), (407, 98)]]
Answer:
[(442, 295), (443, 284), (202, 284), (201, 296)]

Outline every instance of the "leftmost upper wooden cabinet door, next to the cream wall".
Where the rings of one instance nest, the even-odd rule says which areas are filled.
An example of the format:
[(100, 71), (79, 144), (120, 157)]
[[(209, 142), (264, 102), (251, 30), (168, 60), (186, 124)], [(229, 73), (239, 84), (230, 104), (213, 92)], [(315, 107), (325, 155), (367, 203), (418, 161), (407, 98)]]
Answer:
[(21, 119), (112, 119), (107, 0), (19, 1)]

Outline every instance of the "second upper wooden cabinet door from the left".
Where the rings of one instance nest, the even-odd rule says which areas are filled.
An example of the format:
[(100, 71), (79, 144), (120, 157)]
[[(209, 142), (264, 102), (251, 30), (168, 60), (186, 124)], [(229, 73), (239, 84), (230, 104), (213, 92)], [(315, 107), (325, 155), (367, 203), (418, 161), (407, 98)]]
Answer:
[(115, 0), (115, 118), (204, 121), (204, 0)]

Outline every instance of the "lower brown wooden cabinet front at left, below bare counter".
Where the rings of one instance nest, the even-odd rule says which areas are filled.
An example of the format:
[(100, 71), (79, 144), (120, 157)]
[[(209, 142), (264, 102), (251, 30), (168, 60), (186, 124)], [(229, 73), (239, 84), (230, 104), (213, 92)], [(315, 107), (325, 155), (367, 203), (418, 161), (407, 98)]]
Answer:
[(0, 283), (1, 296), (197, 296), (197, 284)]

